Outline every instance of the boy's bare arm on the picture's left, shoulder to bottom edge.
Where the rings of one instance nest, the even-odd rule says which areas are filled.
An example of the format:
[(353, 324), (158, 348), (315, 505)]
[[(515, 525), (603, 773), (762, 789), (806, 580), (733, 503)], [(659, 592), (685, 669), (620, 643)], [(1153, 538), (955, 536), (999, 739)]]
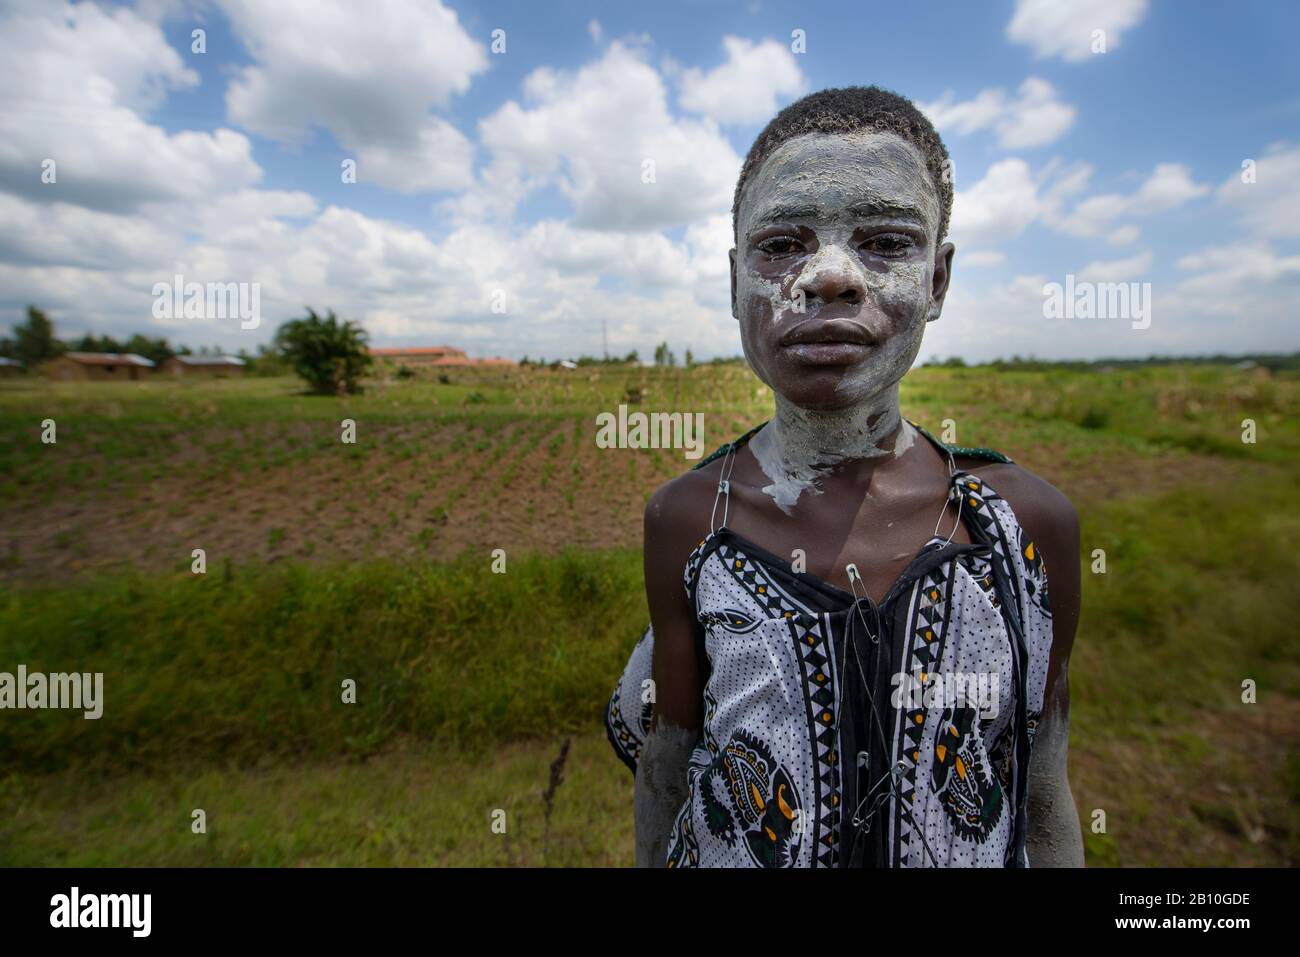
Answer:
[[(682, 572), (698, 524), (707, 510), (693, 507), (694, 486), (684, 476), (660, 488), (646, 506), (645, 577), (654, 628), (654, 720), (641, 748), (636, 776), (637, 866), (663, 867), (668, 835), (686, 802), (686, 762), (703, 723), (703, 668), (698, 623), (682, 588)], [(697, 514), (698, 511), (698, 514)]]

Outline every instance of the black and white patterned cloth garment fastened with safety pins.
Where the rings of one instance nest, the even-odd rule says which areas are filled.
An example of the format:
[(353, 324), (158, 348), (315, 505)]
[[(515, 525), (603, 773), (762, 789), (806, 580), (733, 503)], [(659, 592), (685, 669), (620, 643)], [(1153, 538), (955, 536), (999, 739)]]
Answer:
[[(668, 866), (1028, 866), (1045, 570), (1010, 505), (953, 455), (1010, 459), (916, 428), (948, 458), (971, 542), (936, 532), (879, 606), (736, 534), (725, 510), (692, 553), (685, 588), (710, 674)], [(653, 653), (647, 627), (606, 710), (633, 772)]]

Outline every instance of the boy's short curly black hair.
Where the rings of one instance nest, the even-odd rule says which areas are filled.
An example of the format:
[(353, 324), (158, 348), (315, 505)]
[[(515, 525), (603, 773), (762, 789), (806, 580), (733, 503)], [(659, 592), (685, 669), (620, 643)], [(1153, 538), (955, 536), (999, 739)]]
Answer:
[(732, 200), (732, 237), (740, 237), (740, 198), (745, 183), (758, 172), (768, 156), (785, 140), (806, 133), (854, 133), (880, 130), (894, 133), (915, 146), (926, 160), (930, 178), (939, 190), (939, 239), (948, 235), (948, 220), (953, 212), (953, 176), (948, 147), (940, 139), (933, 124), (916, 109), (906, 96), (881, 90), (878, 86), (849, 86), (822, 90), (796, 100), (777, 113), (745, 156), (736, 196)]

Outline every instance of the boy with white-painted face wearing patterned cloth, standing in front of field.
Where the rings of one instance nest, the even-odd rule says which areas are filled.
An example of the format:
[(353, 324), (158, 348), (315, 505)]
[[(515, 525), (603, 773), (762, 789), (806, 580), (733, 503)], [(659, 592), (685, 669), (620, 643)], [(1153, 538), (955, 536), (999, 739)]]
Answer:
[(641, 866), (1083, 863), (1078, 518), (898, 408), (948, 291), (946, 160), (876, 87), (803, 98), (745, 160), (732, 313), (776, 413), (646, 508), (651, 628), (607, 714)]

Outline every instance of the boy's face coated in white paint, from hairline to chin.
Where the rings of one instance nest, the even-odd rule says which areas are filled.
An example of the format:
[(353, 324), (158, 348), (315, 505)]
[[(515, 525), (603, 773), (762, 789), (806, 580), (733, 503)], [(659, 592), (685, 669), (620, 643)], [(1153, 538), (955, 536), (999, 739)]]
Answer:
[(939, 319), (953, 246), (920, 152), (892, 133), (786, 140), (745, 185), (732, 315), (755, 374), (844, 408), (904, 377)]

